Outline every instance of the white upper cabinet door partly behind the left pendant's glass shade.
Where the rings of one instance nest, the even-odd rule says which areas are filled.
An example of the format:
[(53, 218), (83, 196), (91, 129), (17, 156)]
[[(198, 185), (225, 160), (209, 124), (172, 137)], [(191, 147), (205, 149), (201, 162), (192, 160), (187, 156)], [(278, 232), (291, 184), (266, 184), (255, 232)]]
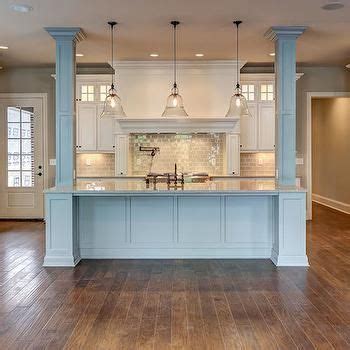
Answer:
[(97, 150), (98, 151), (114, 151), (115, 137), (114, 137), (114, 123), (113, 118), (103, 117), (103, 106), (99, 106), (97, 114)]

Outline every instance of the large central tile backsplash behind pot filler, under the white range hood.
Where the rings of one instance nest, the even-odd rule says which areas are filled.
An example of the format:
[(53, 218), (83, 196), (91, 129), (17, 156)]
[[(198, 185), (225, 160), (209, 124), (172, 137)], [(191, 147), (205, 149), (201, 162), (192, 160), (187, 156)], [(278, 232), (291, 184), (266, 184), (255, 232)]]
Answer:
[[(164, 173), (206, 172), (223, 174), (224, 134), (140, 134), (130, 135), (129, 162), (133, 175), (149, 172)], [(140, 146), (159, 147), (151, 163), (150, 152), (141, 152)]]

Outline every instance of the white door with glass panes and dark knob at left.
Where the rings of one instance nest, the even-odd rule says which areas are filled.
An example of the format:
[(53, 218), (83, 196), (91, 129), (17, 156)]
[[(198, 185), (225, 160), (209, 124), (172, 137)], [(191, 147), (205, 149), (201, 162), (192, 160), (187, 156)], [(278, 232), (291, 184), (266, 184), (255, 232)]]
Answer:
[(0, 217), (43, 218), (43, 100), (0, 97)]

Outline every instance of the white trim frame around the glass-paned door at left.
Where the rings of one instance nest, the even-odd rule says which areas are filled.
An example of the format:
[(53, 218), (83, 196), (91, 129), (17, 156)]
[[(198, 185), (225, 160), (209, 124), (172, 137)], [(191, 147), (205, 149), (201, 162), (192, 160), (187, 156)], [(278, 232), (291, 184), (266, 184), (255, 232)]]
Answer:
[[(43, 154), (43, 183), (44, 190), (48, 188), (49, 184), (49, 157), (48, 157), (48, 128), (47, 128), (47, 93), (0, 93), (0, 100), (2, 99), (39, 99), (42, 104), (42, 116), (41, 116), (41, 138), (42, 138), (42, 154)], [(44, 206), (45, 214), (45, 206)]]

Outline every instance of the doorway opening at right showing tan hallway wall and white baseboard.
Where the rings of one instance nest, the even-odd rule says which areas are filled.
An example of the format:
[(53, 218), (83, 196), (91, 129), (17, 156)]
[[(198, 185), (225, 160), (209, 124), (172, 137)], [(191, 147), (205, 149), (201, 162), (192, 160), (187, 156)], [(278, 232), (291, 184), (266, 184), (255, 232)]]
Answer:
[(350, 95), (310, 96), (308, 218), (312, 202), (350, 214)]

